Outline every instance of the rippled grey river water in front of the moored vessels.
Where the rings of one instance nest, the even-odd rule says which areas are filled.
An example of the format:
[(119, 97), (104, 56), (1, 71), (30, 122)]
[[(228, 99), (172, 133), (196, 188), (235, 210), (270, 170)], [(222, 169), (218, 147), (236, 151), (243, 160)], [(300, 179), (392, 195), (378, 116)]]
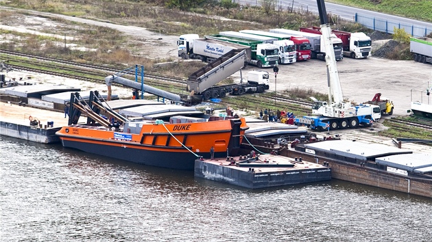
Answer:
[(0, 150), (0, 241), (432, 241), (420, 196), (341, 180), (243, 189), (3, 136)]

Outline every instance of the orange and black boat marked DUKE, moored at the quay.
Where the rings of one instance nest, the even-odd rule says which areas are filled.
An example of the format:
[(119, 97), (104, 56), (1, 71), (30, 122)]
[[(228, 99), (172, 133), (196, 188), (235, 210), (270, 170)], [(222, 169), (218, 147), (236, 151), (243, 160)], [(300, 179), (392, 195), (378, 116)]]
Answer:
[[(62, 145), (84, 152), (100, 154), (125, 161), (193, 170), (197, 157), (235, 155), (248, 126), (244, 118), (204, 116), (171, 116), (165, 120), (131, 121), (108, 109), (91, 92), (88, 104), (79, 94), (71, 94), (69, 126), (56, 135)], [(108, 120), (99, 113), (108, 113)], [(88, 122), (75, 120), (86, 113)]]

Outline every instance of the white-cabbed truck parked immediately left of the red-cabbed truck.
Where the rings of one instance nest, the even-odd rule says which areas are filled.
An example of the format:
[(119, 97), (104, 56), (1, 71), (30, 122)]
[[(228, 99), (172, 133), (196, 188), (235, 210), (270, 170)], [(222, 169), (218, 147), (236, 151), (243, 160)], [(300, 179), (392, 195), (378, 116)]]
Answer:
[(282, 33), (270, 33), (266, 31), (250, 30), (250, 29), (241, 30), (239, 32), (250, 33), (256, 36), (276, 38), (277, 40), (274, 40), (273, 44), (278, 46), (279, 48), (279, 60), (278, 60), (279, 64), (290, 64), (297, 61), (296, 44), (294, 44), (292, 40), (289, 40), (289, 37), (291, 36), (287, 36)]

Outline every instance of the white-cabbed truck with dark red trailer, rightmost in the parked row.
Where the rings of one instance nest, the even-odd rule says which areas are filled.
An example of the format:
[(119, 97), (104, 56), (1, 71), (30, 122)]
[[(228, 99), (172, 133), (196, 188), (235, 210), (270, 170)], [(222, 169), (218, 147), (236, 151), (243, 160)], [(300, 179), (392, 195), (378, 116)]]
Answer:
[[(300, 31), (321, 34), (320, 27), (316, 26), (301, 27)], [(348, 56), (353, 59), (361, 59), (371, 56), (372, 40), (370, 40), (370, 37), (366, 36), (365, 33), (350, 33), (335, 29), (332, 29), (331, 33), (334, 33), (337, 38), (341, 39), (344, 56)]]

